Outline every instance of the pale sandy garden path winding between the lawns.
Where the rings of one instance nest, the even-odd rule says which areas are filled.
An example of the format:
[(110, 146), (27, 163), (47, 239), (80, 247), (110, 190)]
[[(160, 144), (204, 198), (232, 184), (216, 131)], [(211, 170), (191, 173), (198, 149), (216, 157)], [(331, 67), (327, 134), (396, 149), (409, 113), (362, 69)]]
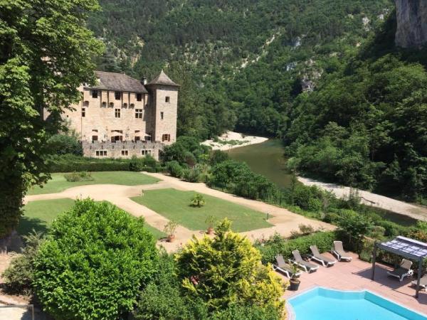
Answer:
[[(234, 196), (230, 193), (218, 191), (209, 188), (204, 183), (189, 183), (181, 181), (178, 178), (166, 176), (164, 174), (149, 174), (161, 179), (158, 183), (153, 183), (143, 186), (119, 186), (113, 184), (102, 184), (102, 185), (88, 185), (88, 186), (76, 186), (68, 188), (60, 193), (48, 193), (33, 196), (26, 196), (24, 201), (36, 201), (36, 200), (49, 200), (58, 198), (93, 198), (95, 201), (110, 201), (119, 208), (126, 210), (127, 212), (137, 217), (143, 216), (145, 221), (152, 225), (154, 228), (163, 230), (164, 225), (168, 222), (167, 218), (159, 215), (153, 210), (142, 206), (130, 200), (131, 197), (140, 196), (144, 190), (152, 190), (159, 188), (176, 188), (183, 191), (196, 191), (199, 193), (205, 193), (209, 196), (221, 198), (226, 201), (237, 203), (241, 206), (246, 206), (253, 210), (258, 210), (262, 213), (269, 214), (270, 218), (268, 222), (273, 224), (273, 227), (263, 228), (258, 230), (251, 230), (242, 235), (246, 235), (249, 239), (255, 240), (259, 238), (268, 238), (274, 233), (280, 233), (280, 235), (288, 236), (291, 231), (297, 230), (300, 224), (312, 225), (315, 229), (332, 230), (333, 225), (323, 223), (322, 221), (312, 220), (302, 215), (292, 213), (285, 208), (279, 208), (272, 206), (262, 201), (255, 201), (246, 198)], [(160, 199), (161, 201), (161, 199)], [(168, 251), (176, 250), (180, 245), (187, 242), (192, 236), (200, 238), (204, 235), (203, 231), (193, 231), (182, 227), (181, 225), (176, 229), (176, 239), (174, 242), (160, 242)]]

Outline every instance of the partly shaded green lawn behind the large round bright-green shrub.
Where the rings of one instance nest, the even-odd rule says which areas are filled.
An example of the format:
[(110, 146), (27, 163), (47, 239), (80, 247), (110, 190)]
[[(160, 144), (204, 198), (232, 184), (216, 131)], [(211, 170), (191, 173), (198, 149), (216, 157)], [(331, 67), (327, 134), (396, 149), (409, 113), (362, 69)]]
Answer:
[[(28, 235), (31, 230), (46, 233), (52, 221), (66, 210), (69, 210), (74, 204), (74, 200), (63, 198), (54, 200), (30, 201), (24, 206), (23, 217), (19, 221), (18, 233)], [(154, 235), (154, 238), (165, 238), (166, 234), (148, 223), (145, 228)]]

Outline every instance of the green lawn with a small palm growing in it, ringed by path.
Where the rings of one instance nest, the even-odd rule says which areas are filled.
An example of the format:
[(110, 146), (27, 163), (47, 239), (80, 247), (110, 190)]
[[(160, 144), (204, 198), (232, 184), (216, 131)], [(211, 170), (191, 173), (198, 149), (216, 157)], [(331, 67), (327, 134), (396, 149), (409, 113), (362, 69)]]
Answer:
[(265, 221), (264, 213), (212, 196), (204, 195), (206, 205), (194, 208), (190, 206), (193, 195), (194, 191), (167, 188), (144, 191), (144, 196), (132, 200), (190, 230), (205, 230), (207, 228), (205, 220), (209, 215), (214, 215), (218, 220), (228, 218), (233, 221), (231, 228), (238, 232), (272, 226)]

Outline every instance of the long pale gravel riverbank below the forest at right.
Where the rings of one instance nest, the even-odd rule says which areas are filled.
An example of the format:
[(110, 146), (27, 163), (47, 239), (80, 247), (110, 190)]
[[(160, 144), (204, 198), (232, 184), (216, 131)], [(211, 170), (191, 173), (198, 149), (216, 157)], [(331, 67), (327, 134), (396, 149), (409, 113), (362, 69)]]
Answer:
[[(349, 187), (339, 186), (335, 183), (325, 183), (300, 176), (298, 177), (298, 181), (304, 183), (306, 186), (318, 186), (324, 190), (332, 191), (338, 198), (348, 196), (350, 192)], [(386, 196), (380, 196), (379, 194), (364, 190), (359, 190), (359, 196), (362, 203), (367, 206), (374, 206), (376, 208), (382, 208), (401, 215), (407, 215), (408, 217), (417, 220), (427, 221), (427, 208), (425, 207), (416, 206), (411, 203), (388, 198)]]

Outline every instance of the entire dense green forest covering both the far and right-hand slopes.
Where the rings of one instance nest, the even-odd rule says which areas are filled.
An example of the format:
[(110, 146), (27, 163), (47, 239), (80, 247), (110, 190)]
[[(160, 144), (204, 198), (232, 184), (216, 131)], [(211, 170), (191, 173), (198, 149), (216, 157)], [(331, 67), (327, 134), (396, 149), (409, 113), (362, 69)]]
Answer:
[(302, 172), (425, 201), (426, 55), (395, 48), (393, 1), (100, 4), (99, 68), (164, 68), (181, 85), (180, 135), (280, 137)]

